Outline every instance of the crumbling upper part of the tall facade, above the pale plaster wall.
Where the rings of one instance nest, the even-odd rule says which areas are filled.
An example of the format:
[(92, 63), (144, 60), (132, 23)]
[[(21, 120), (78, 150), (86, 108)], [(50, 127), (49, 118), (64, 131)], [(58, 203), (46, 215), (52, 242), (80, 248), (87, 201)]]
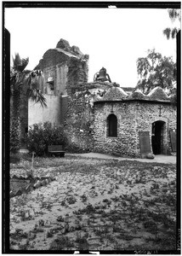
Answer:
[[(54, 96), (66, 95), (66, 90), (71, 86), (86, 83), (88, 81), (88, 55), (83, 55), (80, 49), (60, 39), (56, 48), (48, 49), (39, 61), (36, 69), (43, 71), (44, 85), (43, 93)], [(48, 83), (51, 77), (54, 83)]]

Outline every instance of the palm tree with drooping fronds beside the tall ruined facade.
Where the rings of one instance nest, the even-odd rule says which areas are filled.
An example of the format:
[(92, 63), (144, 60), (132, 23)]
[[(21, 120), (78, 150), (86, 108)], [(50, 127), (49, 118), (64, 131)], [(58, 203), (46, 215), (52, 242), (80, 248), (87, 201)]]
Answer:
[(29, 58), (21, 59), (17, 53), (13, 58), (13, 67), (10, 71), (11, 111), (10, 111), (10, 151), (17, 153), (20, 149), (20, 96), (23, 87), (26, 87), (26, 96), (34, 102), (40, 102), (42, 107), (47, 107), (46, 99), (37, 89), (37, 78), (41, 71), (25, 70)]

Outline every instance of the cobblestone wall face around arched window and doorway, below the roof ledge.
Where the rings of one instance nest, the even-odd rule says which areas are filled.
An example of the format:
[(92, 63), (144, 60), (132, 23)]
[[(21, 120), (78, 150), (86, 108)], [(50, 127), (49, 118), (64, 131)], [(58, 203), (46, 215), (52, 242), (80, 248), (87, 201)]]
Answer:
[[(176, 111), (172, 105), (162, 104), (159, 117), (159, 103), (149, 102), (100, 102), (94, 104), (94, 152), (140, 157), (139, 131), (149, 131), (156, 120), (166, 122), (166, 147), (169, 129), (176, 127)], [(107, 137), (107, 117), (117, 116), (117, 137)], [(152, 152), (152, 148), (151, 148)]]

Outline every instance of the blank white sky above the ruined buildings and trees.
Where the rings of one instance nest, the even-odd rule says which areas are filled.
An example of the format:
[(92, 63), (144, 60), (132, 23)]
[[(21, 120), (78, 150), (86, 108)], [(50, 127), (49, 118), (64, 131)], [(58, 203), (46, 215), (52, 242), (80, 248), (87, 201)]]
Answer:
[(176, 60), (175, 40), (162, 34), (173, 26), (179, 24), (172, 23), (167, 9), (5, 9), (11, 55), (28, 56), (27, 69), (63, 38), (89, 55), (88, 82), (105, 67), (111, 81), (122, 87), (136, 86), (136, 61), (148, 49)]

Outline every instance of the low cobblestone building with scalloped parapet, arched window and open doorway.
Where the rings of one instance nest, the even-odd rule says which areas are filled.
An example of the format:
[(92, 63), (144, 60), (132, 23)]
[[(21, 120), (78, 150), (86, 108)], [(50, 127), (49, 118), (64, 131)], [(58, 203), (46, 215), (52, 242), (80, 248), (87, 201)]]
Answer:
[(170, 131), (175, 129), (176, 109), (160, 87), (147, 96), (141, 92), (125, 96), (121, 89), (112, 88), (94, 102), (96, 152), (131, 157), (168, 154)]

